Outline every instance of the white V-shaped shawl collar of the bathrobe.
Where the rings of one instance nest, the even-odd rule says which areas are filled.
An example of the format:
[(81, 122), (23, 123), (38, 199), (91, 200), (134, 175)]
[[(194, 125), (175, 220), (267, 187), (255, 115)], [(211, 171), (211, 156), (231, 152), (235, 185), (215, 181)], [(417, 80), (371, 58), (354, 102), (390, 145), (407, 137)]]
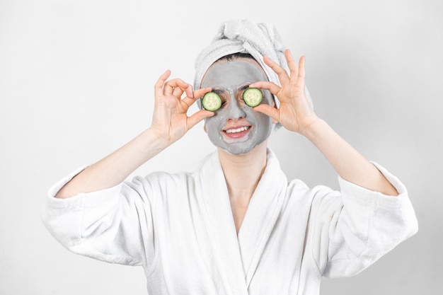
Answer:
[(253, 193), (248, 210), (236, 234), (228, 188), (218, 152), (202, 161), (200, 190), (208, 220), (208, 235), (221, 277), (232, 294), (248, 294), (248, 286), (260, 256), (280, 214), (287, 189), (287, 178), (275, 154), (267, 149), (267, 166)]

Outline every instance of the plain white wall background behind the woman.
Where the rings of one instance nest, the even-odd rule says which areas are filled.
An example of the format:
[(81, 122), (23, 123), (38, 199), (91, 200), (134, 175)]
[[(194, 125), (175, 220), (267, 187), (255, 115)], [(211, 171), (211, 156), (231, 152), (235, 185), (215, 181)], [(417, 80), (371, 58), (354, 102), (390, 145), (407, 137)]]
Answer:
[[(420, 231), (321, 294), (442, 294), (443, 2), (439, 0), (0, 1), (0, 294), (146, 294), (141, 267), (62, 248), (40, 221), (48, 188), (149, 126), (166, 69), (192, 83), (220, 23), (273, 23), (306, 55), (317, 114), (408, 187)], [(196, 108), (192, 108), (194, 112)], [(289, 178), (337, 188), (299, 134), (270, 139)], [(200, 123), (139, 168), (190, 170)]]

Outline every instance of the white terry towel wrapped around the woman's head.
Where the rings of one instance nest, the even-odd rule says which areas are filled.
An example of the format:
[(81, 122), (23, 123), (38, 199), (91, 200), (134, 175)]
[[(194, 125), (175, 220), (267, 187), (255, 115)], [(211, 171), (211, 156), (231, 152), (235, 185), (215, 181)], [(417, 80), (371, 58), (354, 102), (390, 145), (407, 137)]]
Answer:
[[(265, 70), (269, 81), (280, 85), (277, 74), (263, 62), (263, 57), (269, 57), (289, 72), (284, 58), (285, 49), (276, 28), (269, 23), (253, 23), (246, 19), (225, 21), (212, 42), (195, 60), (194, 89), (200, 88), (202, 78), (211, 64), (221, 57), (238, 52), (251, 54)], [(312, 105), (307, 88), (305, 91)], [(279, 108), (280, 102), (276, 97), (274, 99), (276, 107)], [(201, 108), (200, 102), (198, 103)]]

